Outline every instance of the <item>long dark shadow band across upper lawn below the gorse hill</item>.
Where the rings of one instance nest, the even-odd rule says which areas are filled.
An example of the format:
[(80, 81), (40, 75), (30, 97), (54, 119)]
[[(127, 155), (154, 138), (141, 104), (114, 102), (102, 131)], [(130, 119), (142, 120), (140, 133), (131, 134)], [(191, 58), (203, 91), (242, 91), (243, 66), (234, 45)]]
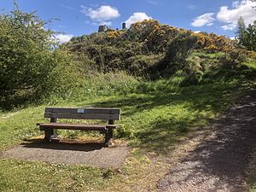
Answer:
[(173, 90), (148, 92), (148, 94), (119, 96), (106, 102), (91, 103), (95, 107), (124, 108), (122, 115), (132, 116), (142, 113), (147, 109), (160, 106), (173, 106), (189, 102), (195, 110), (209, 108), (213, 112), (219, 112), (225, 108), (224, 104), (230, 99), (232, 91), (237, 87), (234, 84), (204, 84), (189, 87), (181, 87)]

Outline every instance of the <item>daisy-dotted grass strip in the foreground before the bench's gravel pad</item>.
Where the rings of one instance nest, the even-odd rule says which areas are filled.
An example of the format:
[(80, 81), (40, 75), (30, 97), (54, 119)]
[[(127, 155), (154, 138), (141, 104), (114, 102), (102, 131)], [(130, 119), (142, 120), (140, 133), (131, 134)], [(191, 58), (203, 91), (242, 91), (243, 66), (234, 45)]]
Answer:
[(104, 188), (111, 170), (0, 160), (0, 191), (94, 191)]

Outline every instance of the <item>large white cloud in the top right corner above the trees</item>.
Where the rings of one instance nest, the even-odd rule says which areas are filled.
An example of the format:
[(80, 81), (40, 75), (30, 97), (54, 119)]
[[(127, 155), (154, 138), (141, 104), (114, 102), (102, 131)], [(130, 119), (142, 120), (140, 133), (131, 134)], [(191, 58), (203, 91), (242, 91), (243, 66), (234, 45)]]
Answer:
[(242, 17), (246, 25), (253, 23), (256, 18), (256, 11), (253, 7), (256, 6), (256, 2), (247, 0), (236, 1), (232, 3), (232, 9), (227, 6), (223, 6), (219, 9), (217, 19), (226, 23), (222, 26), (224, 30), (233, 30), (237, 26), (237, 20)]

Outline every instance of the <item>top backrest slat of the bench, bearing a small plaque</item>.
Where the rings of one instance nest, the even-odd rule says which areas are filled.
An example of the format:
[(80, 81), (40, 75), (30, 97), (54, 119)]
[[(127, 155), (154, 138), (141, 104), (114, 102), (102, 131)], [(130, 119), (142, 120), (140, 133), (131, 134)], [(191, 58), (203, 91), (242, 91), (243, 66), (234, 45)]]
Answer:
[(45, 108), (45, 113), (108, 113), (119, 114), (120, 108)]

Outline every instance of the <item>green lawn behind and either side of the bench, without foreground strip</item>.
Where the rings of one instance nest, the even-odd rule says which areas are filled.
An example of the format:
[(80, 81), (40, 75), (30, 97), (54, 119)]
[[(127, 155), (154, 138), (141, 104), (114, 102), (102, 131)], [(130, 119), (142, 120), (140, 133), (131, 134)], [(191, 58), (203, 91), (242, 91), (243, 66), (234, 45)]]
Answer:
[[(165, 137), (161, 136), (164, 133), (168, 135), (168, 139), (172, 135), (183, 135), (188, 127), (201, 125), (223, 111), (240, 93), (240, 83), (236, 81), (171, 89), (165, 87), (164, 83), (158, 84), (156, 88), (154, 85), (148, 83), (143, 88), (148, 94), (105, 96), (84, 102), (60, 102), (56, 106), (121, 108), (121, 128), (116, 133), (117, 137), (125, 137), (144, 145), (162, 141), (160, 137)], [(46, 106), (2, 113), (0, 148), (9, 148), (24, 138), (40, 134), (35, 124), (47, 122), (48, 119), (43, 118), (44, 107)], [(162, 146), (163, 144), (160, 143)], [(168, 146), (169, 143), (166, 143), (166, 148)], [(153, 149), (147, 145), (145, 148)]]

